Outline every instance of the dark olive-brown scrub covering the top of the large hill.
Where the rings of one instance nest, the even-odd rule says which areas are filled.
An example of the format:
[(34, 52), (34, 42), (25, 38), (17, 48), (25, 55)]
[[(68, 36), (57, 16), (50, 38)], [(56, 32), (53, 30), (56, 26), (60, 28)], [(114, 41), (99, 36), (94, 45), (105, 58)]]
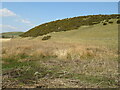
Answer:
[(120, 16), (119, 14), (112, 14), (112, 15), (88, 15), (66, 18), (36, 26), (20, 36), (37, 37), (48, 34), (50, 32), (69, 31), (73, 29), (78, 29), (81, 26), (86, 25), (91, 26), (101, 22), (103, 25), (106, 25), (107, 23), (112, 23), (111, 19), (119, 19), (119, 16)]

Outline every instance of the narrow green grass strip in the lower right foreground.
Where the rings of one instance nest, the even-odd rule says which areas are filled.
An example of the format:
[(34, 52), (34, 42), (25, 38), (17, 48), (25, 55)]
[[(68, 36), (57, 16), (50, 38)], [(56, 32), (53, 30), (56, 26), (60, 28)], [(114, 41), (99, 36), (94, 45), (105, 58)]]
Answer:
[(105, 76), (91, 76), (91, 75), (69, 73), (61, 78), (80, 80), (81, 82), (86, 82), (96, 85), (98, 84), (99, 86), (102, 87), (118, 86), (118, 82), (116, 82), (115, 79), (107, 78)]

